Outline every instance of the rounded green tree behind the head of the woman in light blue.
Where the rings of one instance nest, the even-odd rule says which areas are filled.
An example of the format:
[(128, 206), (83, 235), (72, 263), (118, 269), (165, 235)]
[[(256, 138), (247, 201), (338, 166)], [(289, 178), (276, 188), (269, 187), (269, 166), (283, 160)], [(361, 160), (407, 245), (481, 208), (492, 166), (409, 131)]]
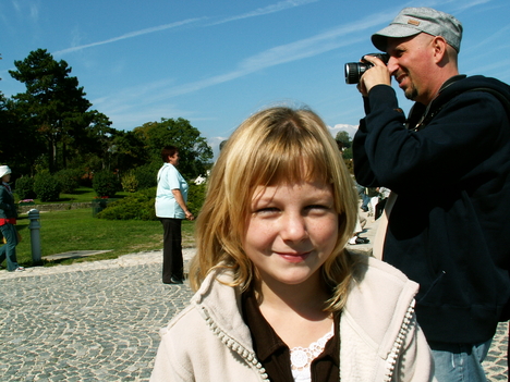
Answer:
[(161, 119), (161, 122), (148, 122), (133, 131), (144, 141), (153, 161), (161, 162), (161, 149), (172, 145), (179, 149), (179, 171), (184, 177), (194, 178), (205, 174), (212, 149), (201, 132), (190, 121), (179, 118)]

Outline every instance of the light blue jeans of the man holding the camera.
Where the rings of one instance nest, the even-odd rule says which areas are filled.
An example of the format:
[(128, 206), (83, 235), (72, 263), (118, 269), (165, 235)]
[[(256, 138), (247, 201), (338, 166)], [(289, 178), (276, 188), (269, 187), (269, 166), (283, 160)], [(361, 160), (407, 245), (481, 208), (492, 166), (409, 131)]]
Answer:
[(482, 362), (490, 347), (489, 341), (477, 344), (442, 344), (429, 342), (438, 382), (486, 382)]

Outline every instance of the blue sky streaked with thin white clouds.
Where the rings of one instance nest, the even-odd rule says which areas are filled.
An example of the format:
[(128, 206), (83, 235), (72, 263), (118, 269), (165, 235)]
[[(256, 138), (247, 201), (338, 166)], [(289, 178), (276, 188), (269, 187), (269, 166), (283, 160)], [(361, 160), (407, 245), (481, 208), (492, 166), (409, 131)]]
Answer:
[(307, 104), (335, 134), (363, 116), (344, 63), (373, 52), (369, 36), (404, 7), (457, 16), (460, 71), (510, 83), (509, 0), (2, 0), (0, 90), (24, 91), (8, 70), (42, 48), (117, 130), (181, 116), (217, 151), (247, 115), (283, 102)]

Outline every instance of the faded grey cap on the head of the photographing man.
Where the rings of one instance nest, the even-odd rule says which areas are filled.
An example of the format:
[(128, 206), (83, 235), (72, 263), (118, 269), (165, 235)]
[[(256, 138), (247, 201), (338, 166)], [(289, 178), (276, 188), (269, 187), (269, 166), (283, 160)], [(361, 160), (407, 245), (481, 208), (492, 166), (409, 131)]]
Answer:
[(453, 49), (460, 51), (461, 22), (451, 14), (426, 7), (404, 8), (390, 25), (372, 35), (372, 42), (377, 49), (386, 51), (388, 37), (411, 37), (422, 32), (444, 37)]

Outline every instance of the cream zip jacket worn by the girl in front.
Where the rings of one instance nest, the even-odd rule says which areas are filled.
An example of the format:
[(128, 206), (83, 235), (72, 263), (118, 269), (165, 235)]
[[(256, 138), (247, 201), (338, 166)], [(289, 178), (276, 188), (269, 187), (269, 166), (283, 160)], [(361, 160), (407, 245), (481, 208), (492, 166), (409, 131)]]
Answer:
[[(359, 257), (361, 276), (340, 319), (340, 380), (433, 381), (430, 350), (414, 317), (417, 284), (387, 263)], [(269, 381), (253, 350), (239, 288), (217, 279), (231, 276), (209, 273), (191, 305), (161, 330), (150, 382)]]

